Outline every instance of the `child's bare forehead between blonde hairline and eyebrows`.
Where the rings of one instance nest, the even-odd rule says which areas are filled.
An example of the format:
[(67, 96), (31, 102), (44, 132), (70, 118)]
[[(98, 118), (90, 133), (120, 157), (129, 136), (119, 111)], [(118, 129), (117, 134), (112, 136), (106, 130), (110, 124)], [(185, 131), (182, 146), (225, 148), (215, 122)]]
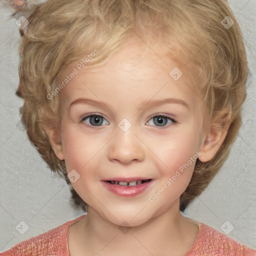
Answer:
[[(61, 102), (68, 106), (82, 94), (104, 99), (102, 101), (112, 100), (113, 95), (125, 101), (131, 97), (143, 101), (166, 98), (167, 94), (182, 98), (184, 93), (192, 106), (194, 99), (201, 101), (195, 84), (197, 70), (180, 66), (159, 49), (143, 43), (131, 39), (106, 61), (82, 67), (61, 89)], [(61, 79), (73, 70), (76, 63), (62, 71)]]

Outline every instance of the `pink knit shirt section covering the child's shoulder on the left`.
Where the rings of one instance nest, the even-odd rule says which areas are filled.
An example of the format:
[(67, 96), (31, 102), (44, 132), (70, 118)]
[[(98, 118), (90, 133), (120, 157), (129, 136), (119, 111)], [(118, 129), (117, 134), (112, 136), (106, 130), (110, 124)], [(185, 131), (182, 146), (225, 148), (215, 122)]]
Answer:
[(81, 217), (83, 215), (69, 220), (47, 232), (21, 241), (10, 249), (0, 253), (0, 256), (69, 255), (67, 249), (68, 229), (73, 222)]

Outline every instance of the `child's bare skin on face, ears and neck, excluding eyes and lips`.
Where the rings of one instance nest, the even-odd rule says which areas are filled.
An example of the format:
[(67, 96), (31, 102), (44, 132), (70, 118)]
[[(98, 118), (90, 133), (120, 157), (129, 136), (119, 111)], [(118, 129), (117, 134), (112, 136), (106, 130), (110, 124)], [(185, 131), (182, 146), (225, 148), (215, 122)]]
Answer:
[[(74, 66), (63, 70), (63, 77)], [(184, 255), (193, 243), (198, 227), (180, 213), (179, 197), (195, 161), (154, 202), (148, 198), (197, 151), (201, 161), (211, 159), (225, 130), (215, 130), (214, 123), (203, 128), (202, 97), (198, 91), (194, 93), (195, 70), (182, 67), (183, 75), (175, 81), (169, 75), (175, 66), (169, 57), (159, 57), (153, 51), (142, 55), (141, 45), (131, 39), (101, 65), (85, 66), (59, 92), (60, 129), (58, 135), (53, 130), (47, 132), (56, 156), (65, 160), (67, 172), (75, 169), (79, 173), (72, 185), (88, 204), (86, 217), (69, 229), (71, 256), (156, 256), (167, 251)], [(78, 98), (101, 105), (70, 106)], [(166, 103), (143, 104), (136, 109), (143, 101), (164, 98), (182, 100), (187, 107)], [(101, 126), (93, 128), (89, 118), (80, 122), (88, 113), (103, 116)], [(167, 123), (160, 129), (151, 117), (156, 114), (168, 115), (176, 122), (163, 118)], [(118, 126), (123, 118), (131, 124), (127, 131)], [(134, 197), (115, 195), (101, 185), (101, 180), (130, 176), (151, 178), (154, 183)], [(121, 224), (123, 221), (126, 224)], [(120, 225), (128, 226), (128, 232), (123, 233)]]

